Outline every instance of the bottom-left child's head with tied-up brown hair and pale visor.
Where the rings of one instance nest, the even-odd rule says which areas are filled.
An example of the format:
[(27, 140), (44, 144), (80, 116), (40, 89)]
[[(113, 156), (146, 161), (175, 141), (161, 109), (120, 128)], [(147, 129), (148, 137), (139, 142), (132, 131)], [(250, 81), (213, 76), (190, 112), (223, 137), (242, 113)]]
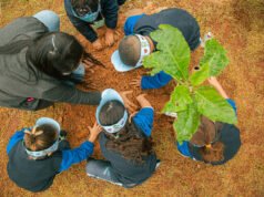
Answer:
[(24, 147), (27, 154), (33, 158), (43, 158), (58, 149), (59, 124), (51, 118), (39, 118), (32, 129), (24, 131)]

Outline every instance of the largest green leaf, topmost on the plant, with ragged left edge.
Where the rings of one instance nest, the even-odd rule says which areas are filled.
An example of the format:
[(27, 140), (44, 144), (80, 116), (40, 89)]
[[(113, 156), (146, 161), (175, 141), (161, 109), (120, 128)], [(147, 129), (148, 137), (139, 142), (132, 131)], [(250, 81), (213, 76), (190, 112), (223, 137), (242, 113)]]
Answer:
[(152, 68), (152, 74), (164, 71), (175, 80), (189, 79), (190, 48), (181, 31), (169, 24), (160, 24), (151, 33), (158, 42), (158, 51), (143, 60), (144, 68)]

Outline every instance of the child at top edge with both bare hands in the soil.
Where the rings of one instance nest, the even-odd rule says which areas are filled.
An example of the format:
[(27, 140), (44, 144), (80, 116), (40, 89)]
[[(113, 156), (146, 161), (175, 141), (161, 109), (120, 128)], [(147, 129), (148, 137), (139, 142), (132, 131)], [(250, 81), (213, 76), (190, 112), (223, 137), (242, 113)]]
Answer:
[(77, 30), (89, 40), (93, 48), (101, 50), (97, 28), (106, 25), (105, 44), (114, 43), (119, 6), (125, 0), (64, 0), (67, 15)]

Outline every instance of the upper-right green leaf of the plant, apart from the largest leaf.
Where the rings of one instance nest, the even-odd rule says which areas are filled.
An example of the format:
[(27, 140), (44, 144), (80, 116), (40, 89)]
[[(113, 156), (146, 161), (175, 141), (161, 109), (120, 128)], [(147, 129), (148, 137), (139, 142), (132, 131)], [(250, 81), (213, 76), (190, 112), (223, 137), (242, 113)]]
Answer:
[(205, 42), (204, 56), (200, 65), (206, 64), (209, 64), (210, 68), (210, 76), (219, 75), (229, 64), (226, 51), (215, 39)]

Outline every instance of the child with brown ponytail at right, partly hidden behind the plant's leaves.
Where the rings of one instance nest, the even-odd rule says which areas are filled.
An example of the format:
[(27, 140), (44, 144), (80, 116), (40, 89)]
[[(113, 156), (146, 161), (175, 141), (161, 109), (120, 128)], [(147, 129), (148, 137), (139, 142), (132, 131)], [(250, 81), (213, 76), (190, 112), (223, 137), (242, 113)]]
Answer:
[[(209, 80), (236, 113), (235, 102), (231, 100), (215, 77)], [(222, 165), (233, 158), (241, 146), (240, 129), (235, 125), (212, 122), (201, 117), (201, 125), (191, 141), (176, 143), (179, 152), (194, 160)]]

